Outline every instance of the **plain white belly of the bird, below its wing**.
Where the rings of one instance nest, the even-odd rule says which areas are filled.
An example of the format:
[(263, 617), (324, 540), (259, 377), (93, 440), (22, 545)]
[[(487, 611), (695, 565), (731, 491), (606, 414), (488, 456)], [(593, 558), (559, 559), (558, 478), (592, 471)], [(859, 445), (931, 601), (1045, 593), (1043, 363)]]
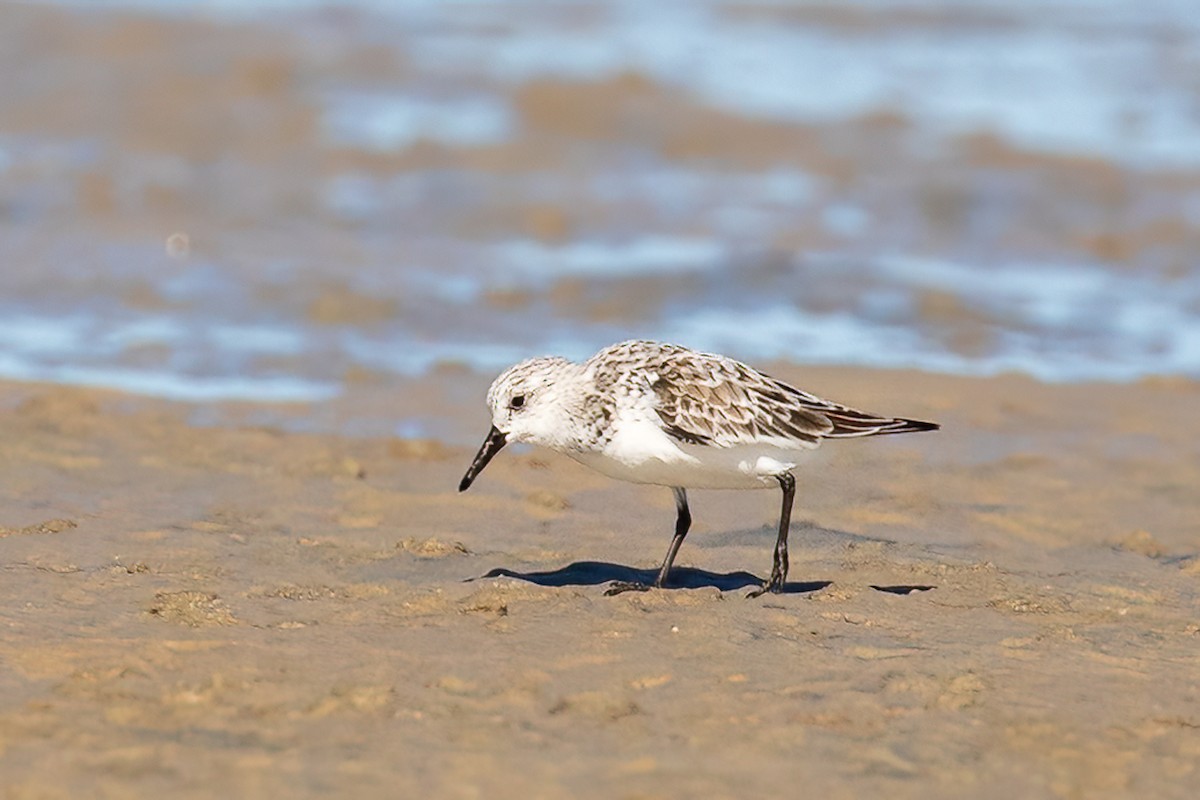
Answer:
[(632, 483), (688, 489), (764, 489), (791, 470), (803, 450), (769, 445), (710, 447), (668, 437), (652, 422), (622, 426), (602, 451), (569, 453), (581, 464)]

